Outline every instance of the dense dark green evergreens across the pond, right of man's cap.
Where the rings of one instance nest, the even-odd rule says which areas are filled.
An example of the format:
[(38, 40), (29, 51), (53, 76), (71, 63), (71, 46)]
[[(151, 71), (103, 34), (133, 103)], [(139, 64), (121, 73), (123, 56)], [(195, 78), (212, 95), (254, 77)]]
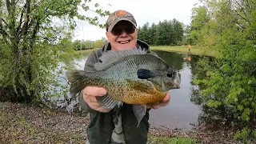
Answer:
[(176, 19), (172, 21), (164, 20), (158, 24), (146, 22), (142, 27), (138, 27), (138, 39), (153, 46), (173, 46), (181, 45), (184, 38), (184, 26)]

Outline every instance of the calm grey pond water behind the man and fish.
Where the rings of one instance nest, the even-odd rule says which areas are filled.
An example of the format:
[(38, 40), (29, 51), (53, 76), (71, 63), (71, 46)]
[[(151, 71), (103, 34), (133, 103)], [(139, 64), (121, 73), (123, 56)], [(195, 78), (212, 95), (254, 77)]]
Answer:
[[(190, 101), (192, 90), (197, 89), (197, 86), (190, 83), (192, 77), (191, 61), (196, 59), (194, 58), (196, 56), (166, 51), (154, 52), (164, 59), (173, 70), (180, 70), (182, 84), (180, 89), (170, 90), (170, 104), (168, 106), (150, 110), (150, 125), (191, 130), (194, 125), (198, 124), (198, 115), (202, 112), (200, 106)], [(83, 70), (87, 55), (74, 60), (78, 70)], [(188, 59), (189, 56), (190, 60)]]

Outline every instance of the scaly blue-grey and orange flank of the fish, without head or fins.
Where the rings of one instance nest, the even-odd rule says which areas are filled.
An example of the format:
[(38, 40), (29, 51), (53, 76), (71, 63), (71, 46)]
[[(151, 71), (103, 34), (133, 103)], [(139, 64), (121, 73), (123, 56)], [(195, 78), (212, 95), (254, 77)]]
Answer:
[(157, 102), (165, 95), (159, 94), (158, 90), (153, 94), (134, 90), (133, 86), (136, 85), (129, 83), (126, 79), (151, 86), (151, 82), (137, 78), (137, 71), (138, 69), (154, 70), (155, 67), (159, 67), (159, 63), (161, 61), (151, 55), (134, 55), (130, 58), (124, 58), (122, 62), (114, 62), (106, 70), (98, 71), (95, 74), (98, 78), (95, 79), (94, 86), (105, 87), (109, 96), (129, 104)]

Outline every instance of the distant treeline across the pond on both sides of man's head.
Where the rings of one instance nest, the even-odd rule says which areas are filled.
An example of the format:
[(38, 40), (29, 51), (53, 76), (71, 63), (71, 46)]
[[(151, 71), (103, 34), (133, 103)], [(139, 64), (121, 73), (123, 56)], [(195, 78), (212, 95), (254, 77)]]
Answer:
[[(138, 39), (148, 43), (150, 46), (177, 46), (190, 43), (188, 37), (189, 26), (185, 26), (182, 22), (173, 20), (164, 20), (158, 24), (146, 22), (143, 26), (138, 26)], [(87, 50), (91, 47), (101, 47), (106, 42), (106, 38), (95, 42), (86, 40), (74, 41), (74, 50)]]

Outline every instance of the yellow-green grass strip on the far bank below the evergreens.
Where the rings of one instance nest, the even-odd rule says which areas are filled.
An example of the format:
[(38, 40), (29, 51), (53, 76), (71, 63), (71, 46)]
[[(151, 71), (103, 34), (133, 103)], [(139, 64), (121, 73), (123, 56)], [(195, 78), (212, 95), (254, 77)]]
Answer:
[[(185, 54), (189, 52), (187, 46), (150, 46), (150, 50), (163, 50)], [(198, 46), (191, 46), (190, 54), (216, 56), (218, 54), (218, 51), (198, 48)]]

